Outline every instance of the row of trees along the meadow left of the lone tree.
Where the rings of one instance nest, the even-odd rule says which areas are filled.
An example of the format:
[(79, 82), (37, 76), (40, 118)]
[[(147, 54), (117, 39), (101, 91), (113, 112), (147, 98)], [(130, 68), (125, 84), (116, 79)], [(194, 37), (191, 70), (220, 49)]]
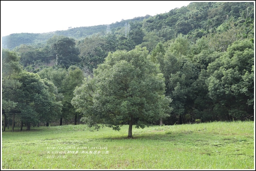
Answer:
[[(31, 125), (48, 123), (62, 118), (75, 117), (78, 113), (70, 104), (73, 90), (84, 79), (84, 72), (77, 66), (44, 68), (39, 73), (27, 72), (20, 64), (20, 57), (14, 51), (2, 49), (2, 113), (4, 131), (8, 120), (21, 122), (27, 130)], [(10, 123), (9, 123), (10, 124)]]

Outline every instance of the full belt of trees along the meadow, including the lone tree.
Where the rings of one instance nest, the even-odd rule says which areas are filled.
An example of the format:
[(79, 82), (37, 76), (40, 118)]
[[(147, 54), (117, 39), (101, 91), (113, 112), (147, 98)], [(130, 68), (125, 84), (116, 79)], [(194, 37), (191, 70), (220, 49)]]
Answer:
[(214, 51), (204, 38), (193, 48), (185, 45), (188, 39), (180, 35), (167, 49), (159, 43), (151, 55), (139, 46), (110, 53), (93, 77), (74, 65), (22, 71), (17, 54), (3, 49), (3, 114), (17, 114), (30, 130), (31, 123), (60, 118), (62, 124), (63, 117), (75, 116), (76, 124), (83, 113), (95, 128), (104, 123), (119, 130), (129, 122), (129, 137), (133, 124), (143, 128), (163, 117), (169, 124), (253, 119), (253, 43), (238, 40), (226, 52)]

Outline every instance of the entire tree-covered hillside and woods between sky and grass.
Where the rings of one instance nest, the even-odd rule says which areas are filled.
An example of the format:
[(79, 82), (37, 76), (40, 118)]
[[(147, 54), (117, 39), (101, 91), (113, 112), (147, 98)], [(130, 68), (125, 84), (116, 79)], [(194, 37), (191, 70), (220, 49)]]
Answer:
[(253, 2), (192, 2), (109, 26), (3, 37), (3, 130), (254, 120)]

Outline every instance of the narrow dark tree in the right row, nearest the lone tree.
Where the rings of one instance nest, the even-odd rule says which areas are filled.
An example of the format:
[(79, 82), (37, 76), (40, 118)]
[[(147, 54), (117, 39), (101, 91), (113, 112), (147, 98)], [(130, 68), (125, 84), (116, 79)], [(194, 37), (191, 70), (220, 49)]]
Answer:
[[(173, 115), (179, 115), (179, 123), (184, 124), (186, 118), (193, 121), (193, 108), (196, 86), (194, 82), (198, 77), (197, 68), (185, 57), (177, 60), (176, 64), (180, 64), (177, 72), (170, 74), (167, 83), (167, 95), (173, 99)], [(190, 115), (188, 115), (190, 114)]]

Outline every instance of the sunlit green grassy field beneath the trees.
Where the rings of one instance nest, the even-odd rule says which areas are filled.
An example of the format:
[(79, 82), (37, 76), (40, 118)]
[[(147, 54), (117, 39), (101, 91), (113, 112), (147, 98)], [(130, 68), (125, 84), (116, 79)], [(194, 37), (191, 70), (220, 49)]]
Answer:
[[(18, 128), (17, 128), (18, 129)], [(2, 169), (254, 169), (254, 122), (31, 127), (2, 133)]]

